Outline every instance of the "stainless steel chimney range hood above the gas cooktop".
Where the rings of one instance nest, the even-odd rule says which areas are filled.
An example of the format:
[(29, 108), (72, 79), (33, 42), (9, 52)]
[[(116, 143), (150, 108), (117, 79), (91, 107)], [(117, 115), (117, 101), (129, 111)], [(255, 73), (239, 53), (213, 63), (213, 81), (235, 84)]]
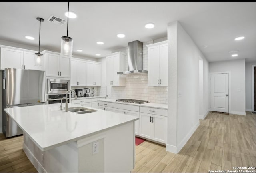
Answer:
[(143, 70), (143, 43), (136, 40), (128, 43), (128, 71), (117, 74), (148, 73)]

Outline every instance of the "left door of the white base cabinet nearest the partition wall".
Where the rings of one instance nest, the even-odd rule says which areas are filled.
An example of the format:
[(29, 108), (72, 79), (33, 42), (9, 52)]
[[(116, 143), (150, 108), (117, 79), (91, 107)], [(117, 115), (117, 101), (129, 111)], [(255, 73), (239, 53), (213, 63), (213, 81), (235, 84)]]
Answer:
[(152, 115), (151, 114), (140, 113), (139, 131), (140, 131), (139, 133), (140, 136), (152, 139)]

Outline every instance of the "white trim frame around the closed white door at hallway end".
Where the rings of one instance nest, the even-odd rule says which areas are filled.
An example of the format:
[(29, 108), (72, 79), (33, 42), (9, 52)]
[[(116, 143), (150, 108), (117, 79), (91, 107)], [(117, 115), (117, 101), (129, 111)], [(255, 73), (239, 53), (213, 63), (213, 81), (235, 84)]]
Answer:
[(227, 71), (227, 72), (211, 72), (209, 73), (209, 105), (210, 105), (210, 111), (212, 111), (212, 102), (211, 102), (211, 75), (212, 74), (223, 74), (223, 73), (227, 73), (228, 74), (228, 113), (230, 113), (231, 111), (231, 72)]

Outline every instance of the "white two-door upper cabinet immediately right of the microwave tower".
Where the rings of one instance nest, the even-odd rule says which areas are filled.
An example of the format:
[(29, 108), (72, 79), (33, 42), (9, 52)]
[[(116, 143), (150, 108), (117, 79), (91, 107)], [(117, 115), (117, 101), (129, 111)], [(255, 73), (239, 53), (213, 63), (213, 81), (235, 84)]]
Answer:
[(71, 59), (70, 86), (87, 86), (87, 61)]

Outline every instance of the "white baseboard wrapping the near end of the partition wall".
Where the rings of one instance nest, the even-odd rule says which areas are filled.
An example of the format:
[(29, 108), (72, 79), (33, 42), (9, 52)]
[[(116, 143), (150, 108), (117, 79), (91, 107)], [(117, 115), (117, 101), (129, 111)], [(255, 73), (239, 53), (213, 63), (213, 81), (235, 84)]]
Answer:
[(184, 147), (184, 145), (186, 144), (188, 139), (193, 135), (193, 133), (196, 131), (198, 126), (199, 126), (199, 121), (194, 125), (194, 127), (192, 127), (190, 132), (184, 137), (184, 139), (179, 143), (177, 147), (166, 144), (166, 151), (177, 154), (182, 149), (182, 147)]

